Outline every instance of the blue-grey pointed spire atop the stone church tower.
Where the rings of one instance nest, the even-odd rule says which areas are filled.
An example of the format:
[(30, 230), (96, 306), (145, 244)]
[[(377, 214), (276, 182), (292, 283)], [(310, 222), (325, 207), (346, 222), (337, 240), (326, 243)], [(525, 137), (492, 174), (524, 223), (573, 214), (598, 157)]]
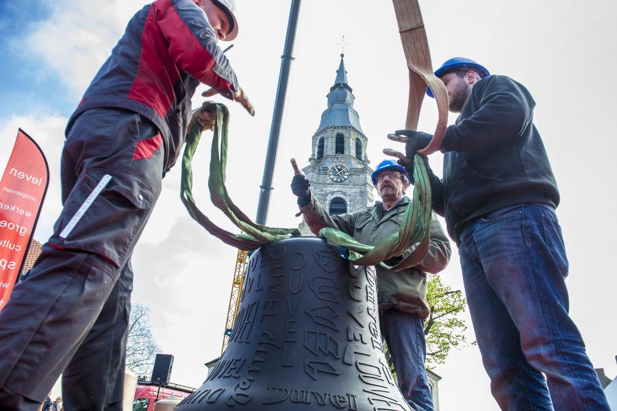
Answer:
[(326, 127), (353, 127), (358, 132), (364, 134), (360, 127), (360, 116), (353, 109), (355, 97), (352, 88), (347, 82), (347, 71), (345, 70), (345, 55), (340, 54), (340, 64), (336, 71), (334, 85), (328, 93), (328, 108), (321, 114), (321, 122), (317, 132)]

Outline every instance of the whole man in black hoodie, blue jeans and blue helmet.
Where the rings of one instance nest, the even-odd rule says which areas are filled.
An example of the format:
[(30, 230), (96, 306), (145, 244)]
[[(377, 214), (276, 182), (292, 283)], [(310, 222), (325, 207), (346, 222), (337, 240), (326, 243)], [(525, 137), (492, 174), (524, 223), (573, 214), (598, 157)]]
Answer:
[[(459, 248), (493, 397), (502, 410), (609, 410), (568, 315), (559, 191), (533, 125), (535, 101), (467, 58), (447, 60), (435, 75), (460, 114), (440, 147), (443, 179), (429, 169), (433, 210)], [(396, 157), (407, 165), (432, 136), (399, 130), (388, 138), (405, 143)]]

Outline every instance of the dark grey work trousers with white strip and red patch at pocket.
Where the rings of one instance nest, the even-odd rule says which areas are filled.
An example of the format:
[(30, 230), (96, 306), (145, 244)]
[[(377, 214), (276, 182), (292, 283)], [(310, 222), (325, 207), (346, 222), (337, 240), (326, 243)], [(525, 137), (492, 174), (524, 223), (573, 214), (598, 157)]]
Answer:
[[(62, 152), (64, 208), (0, 312), (2, 410), (37, 410), (63, 372), (65, 409), (121, 409), (129, 259), (160, 195), (163, 163), (160, 133), (140, 114), (92, 109), (73, 123)], [(109, 184), (60, 237), (104, 175)]]

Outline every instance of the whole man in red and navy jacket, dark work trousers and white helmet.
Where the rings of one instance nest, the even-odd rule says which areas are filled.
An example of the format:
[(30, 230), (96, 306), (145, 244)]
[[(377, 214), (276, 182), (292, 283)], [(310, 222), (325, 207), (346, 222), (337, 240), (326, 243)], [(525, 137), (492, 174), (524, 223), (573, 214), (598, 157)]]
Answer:
[(234, 0), (156, 0), (127, 26), (66, 127), (64, 208), (0, 313), (0, 408), (37, 410), (60, 373), (67, 410), (121, 410), (130, 258), (191, 120), (200, 83), (253, 108), (217, 45)]

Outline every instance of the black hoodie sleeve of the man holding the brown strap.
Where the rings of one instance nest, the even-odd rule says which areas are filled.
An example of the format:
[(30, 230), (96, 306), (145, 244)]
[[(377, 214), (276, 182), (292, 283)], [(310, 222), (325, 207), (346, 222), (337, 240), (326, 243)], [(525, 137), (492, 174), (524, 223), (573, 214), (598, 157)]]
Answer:
[(446, 129), (442, 153), (499, 145), (519, 136), (531, 122), (535, 105), (525, 87), (501, 75), (480, 80), (470, 99), (467, 104), (477, 104), (478, 110)]

